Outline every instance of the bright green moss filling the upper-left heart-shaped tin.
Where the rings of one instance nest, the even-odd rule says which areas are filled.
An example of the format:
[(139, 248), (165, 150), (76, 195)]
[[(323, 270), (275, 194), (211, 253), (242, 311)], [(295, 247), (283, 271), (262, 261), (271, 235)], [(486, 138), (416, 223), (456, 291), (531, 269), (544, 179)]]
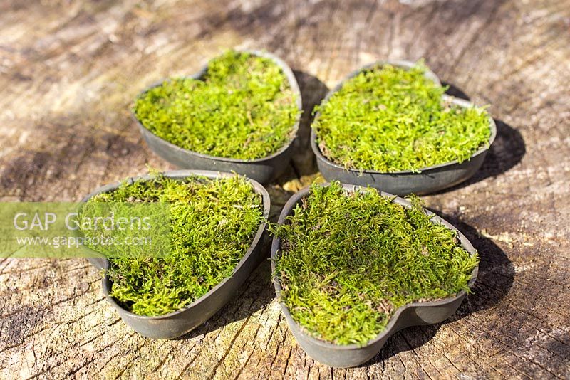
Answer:
[(299, 114), (279, 65), (236, 51), (211, 60), (202, 80), (177, 78), (148, 90), (133, 111), (145, 128), (172, 144), (246, 160), (283, 147)]

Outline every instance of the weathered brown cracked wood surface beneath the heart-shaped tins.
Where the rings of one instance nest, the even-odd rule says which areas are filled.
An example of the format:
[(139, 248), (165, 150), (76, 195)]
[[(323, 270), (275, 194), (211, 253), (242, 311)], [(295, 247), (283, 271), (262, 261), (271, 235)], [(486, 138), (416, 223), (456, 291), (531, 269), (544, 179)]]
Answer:
[(139, 90), (229, 47), (296, 70), (306, 105), (273, 215), (315, 175), (311, 105), (378, 58), (424, 57), (456, 94), (489, 104), (498, 137), (467, 184), (425, 197), (480, 251), (451, 320), (395, 334), (370, 363), (306, 357), (264, 263), (235, 302), (181, 339), (145, 339), (103, 300), (86, 260), (0, 258), (0, 377), (570, 377), (570, 1), (2, 1), (0, 200), (78, 200), (172, 168), (130, 120)]

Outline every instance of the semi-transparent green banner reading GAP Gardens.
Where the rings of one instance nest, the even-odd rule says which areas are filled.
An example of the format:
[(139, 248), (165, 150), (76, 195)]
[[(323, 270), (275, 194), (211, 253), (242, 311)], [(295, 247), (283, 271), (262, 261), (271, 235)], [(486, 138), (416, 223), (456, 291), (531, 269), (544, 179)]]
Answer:
[(0, 203), (0, 257), (160, 257), (170, 251), (170, 204)]

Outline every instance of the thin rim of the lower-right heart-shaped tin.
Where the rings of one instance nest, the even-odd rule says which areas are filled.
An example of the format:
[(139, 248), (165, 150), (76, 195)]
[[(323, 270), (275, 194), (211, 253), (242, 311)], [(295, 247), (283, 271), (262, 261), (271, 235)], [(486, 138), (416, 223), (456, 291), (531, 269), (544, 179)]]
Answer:
[[(328, 185), (330, 185), (330, 183), (326, 182), (323, 184), (318, 184), (317, 186), (326, 187)], [(342, 184), (342, 186), (347, 191), (363, 191), (363, 190), (367, 189), (366, 187), (363, 187), (363, 186), (351, 185), (351, 184)], [(297, 203), (299, 203), (299, 201), (301, 201), (301, 199), (306, 197), (309, 194), (310, 190), (311, 190), (311, 186), (306, 186), (306, 187), (304, 187), (304, 189), (299, 190), (296, 194), (291, 196), (289, 201), (287, 201), (285, 206), (283, 207), (281, 214), (279, 215), (279, 221), (277, 221), (277, 224), (279, 226), (281, 226), (282, 224), (284, 224), (286, 222), (286, 217), (291, 215), (294, 206)], [(373, 189), (373, 190), (378, 191), (375, 189)], [(393, 194), (385, 193), (384, 191), (378, 191), (378, 194), (380, 194), (381, 196), (384, 196), (386, 198), (391, 198), (391, 199), (393, 199), (393, 202), (395, 202), (397, 204), (401, 204), (402, 206), (405, 206), (405, 207), (411, 206), (411, 203), (410, 203), (410, 201), (408, 201), (408, 199), (403, 199), (400, 196), (395, 196)], [(460, 242), (461, 242), (462, 247), (465, 248), (465, 250), (467, 250), (467, 252), (469, 252), (471, 255), (475, 255), (477, 253), (475, 248), (472, 246), (471, 242), (465, 237), (465, 235), (463, 235), (461, 233), (461, 231), (459, 231), (457, 228), (452, 226), (449, 222), (445, 221), (445, 219), (441, 218), (440, 216), (437, 216), (437, 214), (433, 213), (432, 211), (429, 211), (427, 209), (424, 209), (424, 211), (425, 211), (425, 213), (427, 213), (427, 215), (432, 216), (433, 223), (436, 223), (436, 222), (440, 223), (440, 224), (442, 224), (442, 226), (445, 226), (452, 231), (456, 231), (457, 236), (459, 236), (459, 238), (460, 238)], [(276, 256), (279, 256), (281, 254), (281, 252), (279, 252), (279, 254), (278, 254), (278, 250), (280, 248), (281, 248), (281, 238), (274, 237), (273, 241), (271, 243), (271, 273), (275, 272), (275, 258), (276, 258)], [(475, 280), (477, 280), (478, 272), (479, 272), (479, 265), (477, 264), (477, 265), (475, 265), (475, 268), (473, 268), (473, 270), (471, 272), (470, 280), (467, 282), (468, 287), (471, 288), (475, 284)], [(273, 275), (273, 283), (274, 283), (277, 298), (279, 299), (279, 296), (281, 295), (281, 280), (279, 280), (278, 277)], [(304, 327), (302, 327), (299, 323), (297, 323), (293, 319), (293, 317), (291, 316), (291, 313), (289, 312), (289, 307), (287, 307), (284, 304), (284, 302), (279, 301), (279, 305), (281, 305), (281, 310), (283, 311), (286, 319), (292, 321), (295, 324), (296, 328), (299, 329), (299, 332), (301, 334), (303, 334), (303, 336), (306, 339), (309, 339), (311, 341), (311, 344), (316, 344), (318, 347), (321, 347), (324, 349), (333, 349), (336, 351), (351, 351), (351, 350), (363, 349), (364, 347), (372, 346), (375, 343), (379, 342), (380, 340), (384, 339), (385, 337), (390, 337), (390, 335), (393, 334), (393, 332), (395, 332), (393, 330), (395, 329), (395, 327), (398, 323), (398, 320), (400, 319), (400, 316), (402, 315), (402, 313), (405, 310), (407, 310), (410, 307), (445, 306), (445, 305), (449, 305), (449, 304), (459, 300), (462, 297), (465, 297), (466, 294), (467, 294), (467, 292), (465, 292), (465, 290), (461, 290), (460, 292), (457, 293), (457, 295), (452, 296), (452, 297), (447, 297), (447, 298), (444, 298), (442, 300), (434, 300), (434, 301), (426, 301), (426, 302), (410, 302), (406, 305), (402, 305), (402, 306), (398, 307), (398, 310), (396, 310), (395, 313), (390, 317), (390, 321), (388, 322), (386, 327), (375, 338), (368, 340), (368, 342), (366, 342), (366, 344), (363, 344), (363, 345), (359, 345), (356, 343), (342, 344), (341, 345), (341, 344), (326, 342), (324, 340), (313, 337), (312, 335), (307, 334), (305, 332)]]

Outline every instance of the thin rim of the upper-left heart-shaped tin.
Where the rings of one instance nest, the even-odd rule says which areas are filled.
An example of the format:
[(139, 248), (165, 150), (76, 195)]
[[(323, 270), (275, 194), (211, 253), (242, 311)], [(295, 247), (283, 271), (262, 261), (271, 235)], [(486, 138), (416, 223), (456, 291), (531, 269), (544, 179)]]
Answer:
[[(290, 134), (291, 137), (289, 138), (289, 140), (282, 146), (279, 148), (279, 150), (277, 150), (276, 152), (270, 154), (269, 156), (266, 157), (260, 157), (257, 159), (235, 159), (232, 157), (219, 157), (219, 156), (212, 156), (209, 154), (203, 154), (203, 153), (198, 153), (195, 152), (193, 150), (189, 150), (189, 149), (185, 149), (182, 147), (179, 147), (178, 145), (172, 144), (172, 142), (169, 142), (165, 139), (163, 139), (162, 137), (157, 136), (154, 132), (150, 131), (149, 129), (147, 129), (147, 127), (145, 127), (144, 125), (142, 125), (142, 122), (140, 122), (140, 120), (138, 120), (138, 117), (135, 115), (135, 112), (133, 112), (133, 108), (130, 109), (130, 116), (131, 118), (138, 124), (138, 126), (142, 129), (144, 129), (146, 132), (152, 134), (153, 136), (155, 136), (157, 139), (162, 140), (163, 143), (167, 144), (167, 146), (170, 149), (174, 149), (177, 150), (179, 152), (185, 152), (185, 153), (190, 153), (194, 156), (197, 157), (201, 157), (204, 159), (214, 159), (217, 161), (221, 161), (221, 162), (234, 162), (234, 163), (245, 163), (245, 164), (257, 164), (257, 163), (262, 163), (262, 162), (266, 162), (269, 161), (270, 159), (274, 159), (275, 157), (278, 157), (281, 153), (283, 153), (284, 151), (286, 151), (287, 149), (289, 149), (289, 147), (291, 146), (291, 144), (293, 144), (294, 140), (297, 137), (297, 134), (299, 133), (299, 124), (301, 122), (301, 114), (303, 112), (303, 100), (301, 99), (301, 90), (299, 90), (299, 83), (297, 83), (297, 80), (295, 78), (295, 75), (293, 73), (293, 70), (291, 70), (291, 68), (289, 67), (289, 65), (287, 65), (285, 63), (284, 60), (282, 60), (281, 58), (279, 58), (278, 56), (275, 56), (272, 53), (268, 53), (266, 51), (257, 51), (257, 50), (236, 50), (238, 53), (249, 53), (252, 54), (253, 56), (258, 56), (261, 58), (269, 58), (270, 60), (273, 60), (274, 63), (276, 63), (276, 65), (279, 66), (279, 68), (281, 68), (281, 70), (283, 70), (283, 73), (285, 74), (287, 81), (289, 82), (289, 86), (291, 87), (291, 90), (293, 91), (293, 93), (296, 95), (296, 105), (297, 105), (297, 109), (299, 110), (299, 112), (297, 113), (297, 116), (295, 118), (295, 123), (293, 125), (293, 129), (291, 130)], [(208, 70), (208, 65), (209, 63), (206, 63), (206, 65), (204, 65), (199, 71), (197, 71), (197, 73), (194, 73), (192, 75), (187, 75), (184, 77), (180, 77), (180, 78), (187, 78), (187, 79), (197, 79), (197, 80), (201, 80), (202, 77), (204, 76), (204, 73), (206, 73), (206, 71)], [(138, 93), (138, 95), (135, 97), (135, 99), (137, 99), (138, 97), (144, 95), (145, 93), (147, 93), (149, 90), (151, 90), (152, 88), (158, 87), (160, 85), (162, 85), (162, 83), (164, 83), (166, 80), (169, 80), (170, 78), (165, 78), (163, 80), (157, 81), (155, 83), (152, 83), (152, 85), (148, 86), (147, 88), (145, 88), (144, 90), (142, 90), (140, 93)]]

